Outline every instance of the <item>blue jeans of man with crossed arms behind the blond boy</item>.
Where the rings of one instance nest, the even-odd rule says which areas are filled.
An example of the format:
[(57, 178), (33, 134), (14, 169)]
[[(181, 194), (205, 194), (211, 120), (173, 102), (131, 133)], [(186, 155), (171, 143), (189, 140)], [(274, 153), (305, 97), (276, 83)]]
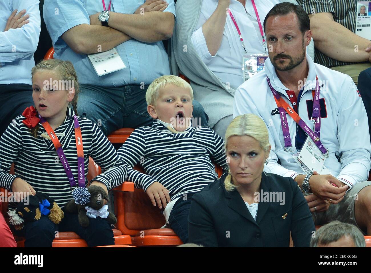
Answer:
[[(111, 132), (124, 128), (151, 126), (152, 117), (147, 112), (145, 93), (140, 85), (125, 85), (122, 87), (98, 87), (91, 84), (81, 84), (78, 94), (78, 115), (89, 118), (101, 128), (107, 136)], [(201, 126), (206, 125), (207, 117), (204, 108), (193, 101), (193, 117), (201, 119)]]

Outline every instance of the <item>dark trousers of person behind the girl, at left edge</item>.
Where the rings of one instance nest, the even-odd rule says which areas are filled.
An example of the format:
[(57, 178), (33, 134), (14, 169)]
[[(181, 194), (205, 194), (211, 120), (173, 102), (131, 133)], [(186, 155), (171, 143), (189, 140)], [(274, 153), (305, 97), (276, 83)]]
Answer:
[(24, 109), (35, 105), (32, 86), (29, 84), (0, 84), (0, 137), (13, 118), (22, 115)]

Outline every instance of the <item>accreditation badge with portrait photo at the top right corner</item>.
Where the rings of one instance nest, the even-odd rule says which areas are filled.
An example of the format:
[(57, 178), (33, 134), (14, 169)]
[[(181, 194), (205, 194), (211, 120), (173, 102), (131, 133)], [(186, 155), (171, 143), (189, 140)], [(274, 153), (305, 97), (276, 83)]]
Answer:
[(371, 40), (371, 1), (357, 2), (357, 26), (355, 34)]

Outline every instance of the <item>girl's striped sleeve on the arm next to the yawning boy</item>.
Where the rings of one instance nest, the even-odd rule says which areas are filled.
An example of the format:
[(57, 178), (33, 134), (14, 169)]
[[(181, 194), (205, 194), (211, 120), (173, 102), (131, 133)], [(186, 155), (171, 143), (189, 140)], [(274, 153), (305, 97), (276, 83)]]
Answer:
[(92, 122), (90, 156), (102, 169), (102, 173), (97, 175), (92, 181), (104, 183), (110, 190), (127, 180), (127, 166), (116, 153), (114, 146), (94, 122)]

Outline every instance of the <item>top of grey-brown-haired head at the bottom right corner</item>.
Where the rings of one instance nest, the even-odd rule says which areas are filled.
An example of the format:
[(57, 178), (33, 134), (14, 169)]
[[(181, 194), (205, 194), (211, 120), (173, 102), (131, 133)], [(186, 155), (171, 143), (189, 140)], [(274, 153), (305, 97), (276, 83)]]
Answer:
[(311, 247), (366, 247), (363, 234), (355, 225), (332, 221), (320, 227)]

